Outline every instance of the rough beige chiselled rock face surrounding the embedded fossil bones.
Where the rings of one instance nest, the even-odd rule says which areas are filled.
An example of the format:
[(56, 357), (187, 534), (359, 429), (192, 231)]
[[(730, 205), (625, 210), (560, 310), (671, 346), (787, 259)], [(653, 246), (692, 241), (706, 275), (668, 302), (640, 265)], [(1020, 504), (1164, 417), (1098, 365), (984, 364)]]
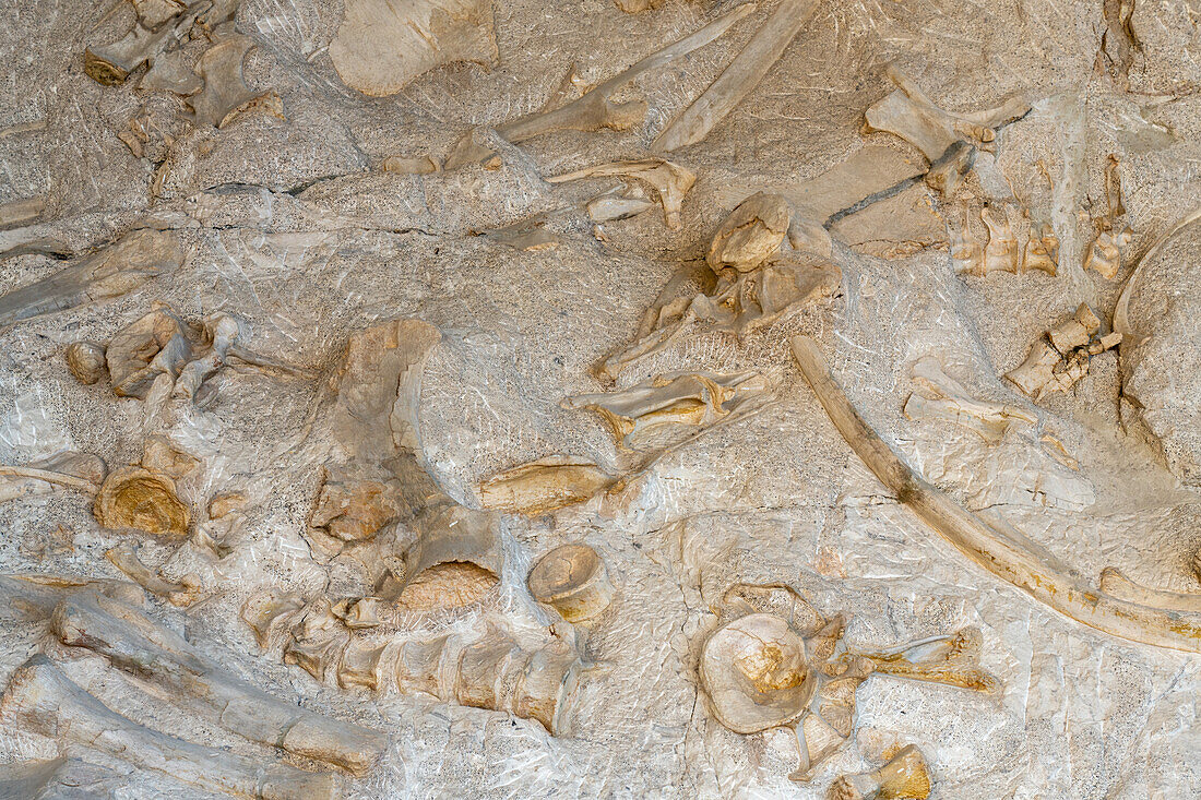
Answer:
[[(999, 377), (1081, 303), (1107, 329), (1140, 257), (1201, 205), (1195, 0), (821, 2), (734, 112), (670, 154), (697, 175), (679, 229), (655, 207), (597, 228), (585, 205), (619, 179), (544, 178), (656, 155), (650, 143), (776, 4), (617, 91), (614, 102), (647, 103), (628, 130), (563, 130), (520, 145), (484, 131), (496, 168), (429, 174), (382, 165), (442, 163), (472, 127), (574, 100), (736, 4), (668, 0), (627, 14), (610, 0), (497, 0), (495, 66), (432, 66), (389, 97), (348, 88), (334, 68), (328, 48), (346, 5), (244, 0), (232, 23), (214, 23), (216, 40), (253, 42), (243, 80), (256, 96), (276, 92), (281, 109), (251, 107), (216, 129), (195, 124), (173, 92), (139, 88), (142, 71), (113, 86), (84, 73), (84, 49), (120, 38), (135, 19), (131, 5), (108, 13), (110, 4), (82, 0), (6, 4), (0, 204), (44, 205), (32, 222), (0, 226), (0, 292), (139, 228), (174, 231), (185, 257), (169, 276), (0, 329), (0, 464), (71, 449), (132, 465), (151, 435), (201, 464), (175, 486), (192, 520), (184, 544), (106, 530), (92, 497), (60, 488), (0, 509), (0, 572), (120, 579), (104, 553), (132, 538), (165, 580), (197, 575), (202, 603), (173, 610), (153, 598), (147, 613), (275, 697), (389, 734), (380, 763), (346, 778), (349, 798), (817, 799), (837, 776), (874, 769), (909, 744), (934, 776), (931, 796), (944, 800), (1201, 796), (1201, 657), (1083, 627), (948, 547), (850, 453), (788, 347), (791, 335), (813, 336), (868, 423), (997, 527), (1091, 581), (1116, 566), (1148, 586), (1201, 592), (1193, 567), (1201, 549), (1197, 226), (1142, 267), (1129, 314), (1146, 336), (1140, 344), (1097, 356), (1070, 392), (1039, 405)], [(171, 52), (190, 73), (211, 42), (199, 30), (185, 38)], [(472, 633), (501, 616), (522, 646), (537, 647), (555, 620), (530, 596), (528, 568), (555, 547), (588, 544), (619, 591), (580, 631), (585, 655), (608, 671), (581, 680), (572, 695), (569, 735), (429, 694), (322, 685), (259, 651), (239, 616), (251, 596), (370, 591), (353, 565), (325, 563), (309, 538), (325, 470), (342, 455), (317, 410), (328, 405), (329, 374), (352, 334), (401, 317), (442, 332), (419, 417), (426, 465), (456, 502), (478, 508), (480, 482), (557, 454), (616, 474), (626, 464), (610, 431), (560, 404), (611, 389), (591, 370), (635, 339), (644, 311), (681, 262), (704, 259), (737, 203), (760, 190), (788, 196), (868, 145), (925, 169), (903, 139), (861, 133), (865, 109), (895, 89), (888, 64), (956, 114), (1017, 94), (1032, 103), (997, 130), (992, 151), (980, 149), (956, 197), (920, 178), (906, 186), (943, 225), (958, 225), (961, 204), (979, 210), (986, 201), (1008, 205), (1015, 220), (1024, 210), (1030, 223), (1048, 223), (1060, 243), (1057, 275), (960, 275), (945, 237), (900, 223), (894, 233), (889, 215), (870, 204), (862, 213), (873, 214), (872, 235), (860, 240), (873, 246), (848, 246), (835, 229), (843, 280), (833, 298), (741, 340), (685, 333), (622, 372), (619, 388), (681, 370), (771, 371), (778, 389), (764, 410), (653, 460), (623, 502), (506, 515), (498, 591), (465, 609), (401, 615), (387, 631)], [(578, 79), (564, 80), (573, 65)], [(1106, 213), (1110, 154), (1134, 238), (1105, 280), (1082, 261)], [(854, 229), (855, 210), (818, 222)], [(979, 219), (973, 235), (982, 247)], [(527, 247), (527, 228), (554, 244)], [(238, 347), (288, 370), (255, 368), (231, 350), (195, 402), (172, 396), (169, 382), (139, 400), (115, 396), (107, 378), (88, 386), (72, 376), (68, 345), (108, 342), (156, 302), (197, 330), (211, 315), (237, 317)], [(906, 418), (913, 366), (928, 356), (973, 398), (1020, 407), (1038, 423), (1014, 423), (990, 446), (951, 420)], [(1134, 417), (1146, 431), (1123, 424), (1133, 419), (1123, 394), (1137, 398)], [(237, 513), (205, 515), (211, 498), (229, 492), (245, 497)], [(60, 527), (72, 548), (29, 547)], [(873, 676), (858, 693), (848, 745), (812, 783), (793, 783), (790, 732), (735, 734), (698, 693), (700, 645), (735, 581), (784, 581), (823, 613), (846, 611), (847, 640), (865, 651), (976, 626), (981, 665), (1004, 689), (987, 697)], [(4, 683), (47, 646), (44, 632), (0, 608)], [(139, 724), (245, 756), (265, 752), (94, 657), (50, 655), (73, 682)], [(104, 783), (121, 782), (120, 796), (213, 796), (98, 751), (61, 754), (110, 770)], [(0, 762), (59, 756), (55, 740), (0, 720)]]

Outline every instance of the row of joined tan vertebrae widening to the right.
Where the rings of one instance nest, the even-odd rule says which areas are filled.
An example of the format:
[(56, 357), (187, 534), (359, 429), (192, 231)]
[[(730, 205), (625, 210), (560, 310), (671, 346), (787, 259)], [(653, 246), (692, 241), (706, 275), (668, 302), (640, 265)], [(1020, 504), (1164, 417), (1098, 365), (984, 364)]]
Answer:
[(432, 638), (368, 639), (335, 614), (325, 598), (303, 603), (294, 596), (261, 595), (243, 619), (265, 647), (283, 639), (283, 658), (318, 681), (343, 688), (363, 686), (422, 692), (447, 703), (506, 711), (542, 723), (551, 735), (567, 732), (564, 709), (586, 671), (573, 637), (551, 632), (527, 650), (498, 625), (483, 635), (447, 633)]

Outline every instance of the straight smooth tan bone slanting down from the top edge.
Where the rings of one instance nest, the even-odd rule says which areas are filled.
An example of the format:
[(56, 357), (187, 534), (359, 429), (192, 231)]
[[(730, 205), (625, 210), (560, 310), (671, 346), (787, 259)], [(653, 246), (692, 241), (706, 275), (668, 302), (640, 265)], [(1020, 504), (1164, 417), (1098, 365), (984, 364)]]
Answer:
[(819, 0), (781, 0), (722, 74), (663, 129), (651, 149), (664, 153), (695, 144), (733, 112), (817, 11)]

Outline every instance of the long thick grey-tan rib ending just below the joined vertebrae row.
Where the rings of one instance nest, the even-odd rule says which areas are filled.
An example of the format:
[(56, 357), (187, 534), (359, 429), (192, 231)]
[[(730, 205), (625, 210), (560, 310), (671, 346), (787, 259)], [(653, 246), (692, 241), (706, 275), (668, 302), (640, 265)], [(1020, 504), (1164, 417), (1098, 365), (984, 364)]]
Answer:
[(307, 711), (237, 677), (125, 603), (95, 595), (67, 597), (54, 610), (50, 629), (62, 644), (104, 656), (251, 741), (357, 775), (387, 746), (387, 735), (377, 730)]

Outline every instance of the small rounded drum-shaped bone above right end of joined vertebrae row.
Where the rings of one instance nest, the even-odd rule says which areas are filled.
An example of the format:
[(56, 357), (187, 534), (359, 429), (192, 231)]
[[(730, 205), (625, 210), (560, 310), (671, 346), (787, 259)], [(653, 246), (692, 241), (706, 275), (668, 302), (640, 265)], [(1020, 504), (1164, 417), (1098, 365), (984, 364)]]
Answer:
[(582, 543), (545, 553), (530, 568), (526, 585), (536, 601), (552, 605), (568, 622), (599, 616), (615, 595), (604, 559)]

